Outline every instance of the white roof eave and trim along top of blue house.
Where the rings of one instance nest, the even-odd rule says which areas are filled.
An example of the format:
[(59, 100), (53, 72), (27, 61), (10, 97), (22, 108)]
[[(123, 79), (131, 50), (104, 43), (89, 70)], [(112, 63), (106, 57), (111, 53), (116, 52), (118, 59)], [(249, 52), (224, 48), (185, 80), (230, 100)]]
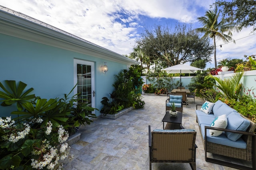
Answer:
[(0, 33), (124, 64), (139, 64), (66, 31), (0, 6)]

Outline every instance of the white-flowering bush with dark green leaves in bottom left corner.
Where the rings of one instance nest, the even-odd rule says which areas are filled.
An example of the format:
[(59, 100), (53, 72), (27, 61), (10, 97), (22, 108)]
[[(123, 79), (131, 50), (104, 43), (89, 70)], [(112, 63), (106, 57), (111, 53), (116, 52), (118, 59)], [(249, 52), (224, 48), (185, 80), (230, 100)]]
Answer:
[(11, 117), (0, 117), (0, 169), (57, 170), (62, 168), (61, 161), (73, 158), (64, 143), (69, 134), (63, 126), (41, 123), (41, 118), (19, 123)]

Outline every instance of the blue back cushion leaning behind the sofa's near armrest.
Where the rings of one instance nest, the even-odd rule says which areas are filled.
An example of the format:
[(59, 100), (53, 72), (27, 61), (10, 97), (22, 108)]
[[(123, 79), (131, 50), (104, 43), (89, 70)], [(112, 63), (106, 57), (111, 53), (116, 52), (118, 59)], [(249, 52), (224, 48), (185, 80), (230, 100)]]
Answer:
[[(236, 111), (234, 111), (233, 113), (230, 113), (227, 119), (228, 119), (228, 126), (226, 127), (227, 129), (246, 131), (250, 126), (250, 121), (248, 121), (247, 119), (244, 119)], [(228, 139), (232, 141), (237, 141), (242, 136), (242, 134), (226, 132), (226, 136)]]

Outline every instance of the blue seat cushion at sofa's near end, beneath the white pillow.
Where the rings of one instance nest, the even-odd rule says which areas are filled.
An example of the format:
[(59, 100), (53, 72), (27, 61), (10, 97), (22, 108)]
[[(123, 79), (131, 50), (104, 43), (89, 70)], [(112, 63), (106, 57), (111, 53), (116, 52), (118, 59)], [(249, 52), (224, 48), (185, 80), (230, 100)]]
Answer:
[[(201, 134), (202, 134), (204, 140), (205, 140), (205, 137), (204, 137), (204, 127), (205, 126), (210, 126), (210, 125), (206, 125), (206, 124), (200, 125)], [(218, 137), (214, 137), (214, 136), (210, 135), (209, 129), (207, 129), (206, 136), (207, 136), (207, 141), (211, 142), (211, 143), (217, 143), (217, 144), (225, 145), (225, 146), (229, 146), (229, 147), (246, 149), (246, 142), (242, 138), (239, 138), (237, 141), (231, 141), (226, 137), (225, 132), (222, 132), (222, 134)]]

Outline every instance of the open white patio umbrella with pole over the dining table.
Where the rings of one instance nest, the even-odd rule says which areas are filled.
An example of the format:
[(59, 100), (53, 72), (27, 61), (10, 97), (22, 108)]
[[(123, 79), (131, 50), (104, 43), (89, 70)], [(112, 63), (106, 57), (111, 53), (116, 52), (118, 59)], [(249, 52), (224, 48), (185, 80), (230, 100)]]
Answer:
[[(174, 66), (170, 66), (168, 68), (164, 68), (167, 73), (180, 73), (180, 82), (181, 82), (181, 73), (195, 73), (197, 70), (202, 70), (201, 68), (185, 65), (185, 64), (177, 64)], [(181, 84), (180, 84), (181, 89)]]

